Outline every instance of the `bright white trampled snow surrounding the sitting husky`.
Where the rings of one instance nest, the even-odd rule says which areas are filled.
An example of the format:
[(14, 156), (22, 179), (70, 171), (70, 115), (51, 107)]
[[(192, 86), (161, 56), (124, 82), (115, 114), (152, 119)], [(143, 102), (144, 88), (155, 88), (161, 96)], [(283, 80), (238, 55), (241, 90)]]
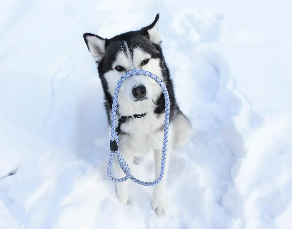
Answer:
[[(291, 228), (291, 1), (0, 3), (0, 228)], [(192, 141), (171, 154), (169, 210), (106, 175), (109, 139), (83, 33), (111, 37), (160, 13)], [(131, 168), (153, 180), (153, 159)], [(12, 175), (11, 175), (12, 173)]]

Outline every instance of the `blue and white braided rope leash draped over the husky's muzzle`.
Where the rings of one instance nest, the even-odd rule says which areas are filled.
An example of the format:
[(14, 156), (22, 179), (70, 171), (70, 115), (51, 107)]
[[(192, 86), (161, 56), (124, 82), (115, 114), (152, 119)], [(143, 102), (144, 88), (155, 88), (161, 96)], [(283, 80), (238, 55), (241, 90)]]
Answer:
[[(162, 147), (161, 168), (160, 168), (159, 177), (157, 178), (157, 180), (155, 180), (153, 182), (143, 182), (143, 181), (140, 181), (140, 180), (136, 179), (135, 177), (133, 177), (131, 175), (131, 170), (130, 170), (128, 163), (124, 160), (123, 156), (119, 152), (119, 136), (118, 136), (117, 131), (116, 131), (116, 116), (117, 116), (119, 91), (120, 91), (120, 88), (121, 88), (123, 82), (127, 78), (129, 78), (131, 76), (135, 76), (135, 75), (149, 76), (150, 78), (154, 79), (159, 84), (159, 86), (161, 87), (162, 92), (164, 94), (164, 101), (165, 101), (164, 112), (165, 112), (165, 115), (164, 115), (164, 138), (163, 138), (163, 147)], [(155, 184), (158, 184), (164, 175), (166, 150), (167, 150), (167, 142), (168, 142), (168, 125), (169, 125), (169, 112), (170, 112), (169, 102), (170, 101), (169, 101), (169, 95), (168, 95), (168, 91), (167, 91), (166, 86), (164, 85), (164, 83), (162, 82), (162, 80), (158, 76), (156, 76), (155, 74), (153, 74), (149, 71), (145, 71), (145, 70), (129, 71), (126, 74), (124, 74), (117, 82), (116, 88), (114, 90), (114, 96), (113, 96), (112, 100), (113, 100), (113, 103), (112, 103), (112, 118), (111, 118), (110, 155), (109, 155), (109, 163), (107, 166), (107, 176), (109, 177), (110, 180), (112, 180), (114, 182), (123, 182), (123, 181), (126, 181), (130, 178), (134, 182), (141, 184), (141, 185), (144, 185), (144, 186), (153, 186)], [(125, 177), (120, 178), (120, 179), (112, 177), (112, 163), (114, 161), (114, 154), (117, 155), (119, 165), (126, 175)]]

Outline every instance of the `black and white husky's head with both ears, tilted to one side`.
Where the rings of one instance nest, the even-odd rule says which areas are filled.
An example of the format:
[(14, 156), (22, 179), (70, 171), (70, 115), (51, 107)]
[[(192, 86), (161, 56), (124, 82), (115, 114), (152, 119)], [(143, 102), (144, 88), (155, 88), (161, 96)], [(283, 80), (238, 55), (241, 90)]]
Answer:
[[(98, 73), (105, 97), (112, 98), (119, 78), (136, 69), (150, 71), (163, 80), (161, 37), (157, 29), (159, 14), (154, 21), (137, 31), (102, 38), (91, 33), (83, 35), (89, 52), (98, 64)], [(132, 76), (124, 81), (119, 93), (119, 105), (124, 114), (134, 110), (145, 112), (161, 94), (160, 86), (147, 76)], [(141, 109), (139, 109), (140, 107)], [(144, 107), (144, 110), (143, 110)], [(148, 108), (147, 108), (148, 107)], [(121, 110), (119, 109), (121, 112)], [(146, 111), (147, 112), (147, 111)]]

